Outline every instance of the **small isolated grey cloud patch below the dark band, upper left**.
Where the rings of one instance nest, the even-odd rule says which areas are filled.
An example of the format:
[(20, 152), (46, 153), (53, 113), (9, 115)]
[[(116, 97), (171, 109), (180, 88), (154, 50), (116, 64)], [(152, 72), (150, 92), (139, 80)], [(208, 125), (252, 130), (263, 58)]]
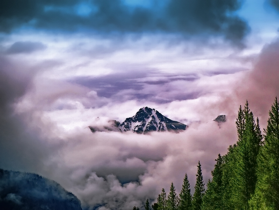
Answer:
[(43, 45), (41, 42), (18, 41), (13, 43), (6, 52), (8, 54), (30, 53), (37, 50), (43, 50), (45, 48), (46, 46)]

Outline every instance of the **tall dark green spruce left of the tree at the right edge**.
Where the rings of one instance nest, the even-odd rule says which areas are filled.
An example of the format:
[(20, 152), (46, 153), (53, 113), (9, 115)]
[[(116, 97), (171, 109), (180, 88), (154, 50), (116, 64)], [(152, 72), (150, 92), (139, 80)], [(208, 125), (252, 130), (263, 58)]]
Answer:
[(257, 183), (257, 156), (262, 140), (258, 119), (256, 126), (253, 113), (248, 107), (248, 101), (246, 101), (244, 110), (240, 105), (236, 125), (238, 133), (237, 151), (241, 157), (235, 166), (238, 167), (236, 171), (239, 170), (240, 173), (237, 183), (241, 191), (239, 196), (242, 198), (244, 209), (248, 210), (249, 200), (255, 192)]

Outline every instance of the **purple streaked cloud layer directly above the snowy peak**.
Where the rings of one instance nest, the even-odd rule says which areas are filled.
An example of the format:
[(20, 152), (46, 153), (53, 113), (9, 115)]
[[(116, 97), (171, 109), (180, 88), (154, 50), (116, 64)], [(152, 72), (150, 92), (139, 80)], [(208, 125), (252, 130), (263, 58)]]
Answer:
[[(182, 82), (185, 88), (187, 84), (191, 86), (192, 82), (198, 79), (197, 75), (164, 74), (160, 76), (160, 74), (157, 74), (156, 77), (152, 75), (154, 75), (154, 72), (151, 72), (151, 75), (147, 72), (128, 75), (123, 72), (123, 74), (110, 74), (95, 78), (79, 77), (70, 80), (70, 82), (96, 91), (99, 97), (114, 98), (118, 101), (144, 99), (156, 103), (167, 103), (174, 100), (194, 99), (199, 95), (198, 90), (190, 89), (174, 93), (176, 81)], [(166, 96), (160, 98), (158, 97), (160, 93), (166, 94)], [(121, 97), (121, 95), (123, 96)]]

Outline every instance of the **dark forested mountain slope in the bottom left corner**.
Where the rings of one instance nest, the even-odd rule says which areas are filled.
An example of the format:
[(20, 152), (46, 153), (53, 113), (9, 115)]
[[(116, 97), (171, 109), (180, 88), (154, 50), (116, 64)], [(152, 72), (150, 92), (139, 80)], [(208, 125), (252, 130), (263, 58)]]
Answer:
[(82, 210), (78, 198), (37, 174), (0, 169), (1, 210)]

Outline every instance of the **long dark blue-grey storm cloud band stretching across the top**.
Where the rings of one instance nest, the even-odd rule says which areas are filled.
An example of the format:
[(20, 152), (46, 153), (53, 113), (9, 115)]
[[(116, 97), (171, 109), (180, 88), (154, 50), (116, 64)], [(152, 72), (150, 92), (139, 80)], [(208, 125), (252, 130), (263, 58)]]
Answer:
[(0, 3), (0, 30), (20, 26), (48, 30), (101, 32), (174, 32), (221, 35), (239, 43), (249, 31), (234, 14), (238, 0), (152, 1), (150, 7), (129, 6), (120, 0), (8, 1)]

